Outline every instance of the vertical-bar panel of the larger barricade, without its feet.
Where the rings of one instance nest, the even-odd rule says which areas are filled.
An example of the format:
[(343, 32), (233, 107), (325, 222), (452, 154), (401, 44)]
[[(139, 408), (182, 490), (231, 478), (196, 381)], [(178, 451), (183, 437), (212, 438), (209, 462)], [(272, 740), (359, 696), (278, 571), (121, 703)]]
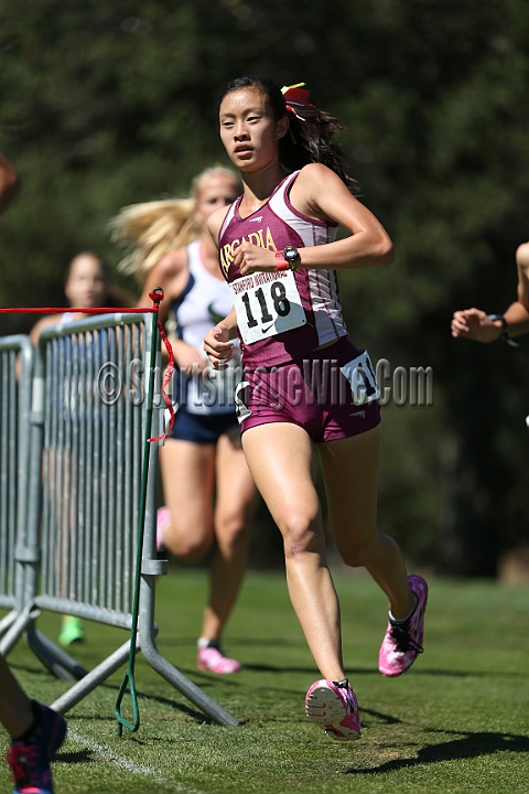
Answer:
[(88, 331), (64, 325), (62, 335), (43, 335), (43, 559), (36, 603), (129, 627), (145, 329), (138, 315), (111, 322), (105, 318), (96, 329), (91, 320)]

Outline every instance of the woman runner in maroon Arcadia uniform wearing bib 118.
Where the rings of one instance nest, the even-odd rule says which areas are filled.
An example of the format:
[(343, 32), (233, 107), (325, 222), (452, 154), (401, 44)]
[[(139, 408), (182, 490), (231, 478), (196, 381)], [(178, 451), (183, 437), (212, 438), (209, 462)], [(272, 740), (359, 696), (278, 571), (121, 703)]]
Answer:
[[(307, 691), (307, 717), (336, 739), (360, 722), (342, 659), (339, 607), (325, 558), (311, 476), (316, 444), (336, 546), (365, 566), (389, 599), (379, 668), (403, 673), (422, 652), (427, 583), (408, 578), (399, 547), (377, 530), (378, 390), (369, 357), (347, 337), (336, 270), (392, 261), (382, 226), (349, 192), (336, 119), (299, 86), (230, 83), (219, 104), (220, 137), (244, 194), (208, 226), (234, 310), (205, 339), (214, 366), (241, 339), (245, 380), (236, 403), (246, 458), (284, 541), (292, 604), (323, 676)], [(350, 232), (335, 242), (336, 226)]]

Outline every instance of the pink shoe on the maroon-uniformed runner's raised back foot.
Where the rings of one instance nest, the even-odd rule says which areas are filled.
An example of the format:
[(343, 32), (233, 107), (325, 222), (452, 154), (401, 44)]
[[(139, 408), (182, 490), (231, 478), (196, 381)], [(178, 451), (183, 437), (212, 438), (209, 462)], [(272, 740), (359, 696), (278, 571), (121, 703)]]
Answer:
[(422, 637), (428, 584), (419, 576), (408, 577), (408, 581), (417, 596), (417, 607), (406, 623), (393, 623), (389, 619), (388, 630), (378, 656), (378, 669), (390, 678), (406, 673), (419, 654), (423, 652)]

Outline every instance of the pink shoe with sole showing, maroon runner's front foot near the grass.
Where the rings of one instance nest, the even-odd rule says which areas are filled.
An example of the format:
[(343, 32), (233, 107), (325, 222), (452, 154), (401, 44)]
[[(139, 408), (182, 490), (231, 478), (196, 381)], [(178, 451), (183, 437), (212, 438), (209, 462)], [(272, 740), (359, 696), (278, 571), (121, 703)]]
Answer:
[(305, 713), (332, 739), (345, 741), (360, 737), (358, 704), (348, 684), (337, 687), (334, 682), (315, 682), (306, 693)]

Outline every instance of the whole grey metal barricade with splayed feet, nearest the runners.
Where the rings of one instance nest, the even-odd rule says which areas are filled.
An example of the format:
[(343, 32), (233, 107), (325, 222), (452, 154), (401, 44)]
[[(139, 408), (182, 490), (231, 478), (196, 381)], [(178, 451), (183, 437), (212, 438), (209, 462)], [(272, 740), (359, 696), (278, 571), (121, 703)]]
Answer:
[[(36, 348), (24, 598), (0, 650), (8, 652), (25, 632), (34, 653), (57, 677), (77, 679), (53, 704), (62, 712), (117, 670), (129, 654), (126, 642), (87, 673), (36, 630), (35, 610), (131, 627), (150, 319), (123, 312), (58, 324), (43, 330)], [(155, 383), (160, 389), (160, 376)], [(154, 425), (160, 414), (155, 411)], [(237, 725), (155, 647), (155, 579), (168, 565), (155, 551), (158, 442), (149, 446), (149, 454), (137, 648), (212, 719)]]

